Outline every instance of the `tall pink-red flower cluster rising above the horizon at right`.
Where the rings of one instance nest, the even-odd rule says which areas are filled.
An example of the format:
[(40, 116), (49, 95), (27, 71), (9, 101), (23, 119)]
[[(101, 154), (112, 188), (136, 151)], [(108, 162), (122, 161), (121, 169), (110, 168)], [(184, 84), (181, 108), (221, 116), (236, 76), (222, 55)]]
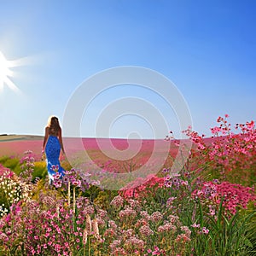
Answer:
[(212, 169), (219, 172), (230, 172), (236, 170), (249, 169), (255, 164), (256, 158), (256, 130), (253, 121), (246, 124), (236, 124), (236, 134), (231, 131), (228, 123), (228, 114), (224, 118), (218, 117), (218, 126), (211, 128), (212, 140), (204, 139), (191, 128), (183, 131), (194, 143), (195, 147), (191, 150), (190, 157), (195, 156), (197, 166), (211, 163)]

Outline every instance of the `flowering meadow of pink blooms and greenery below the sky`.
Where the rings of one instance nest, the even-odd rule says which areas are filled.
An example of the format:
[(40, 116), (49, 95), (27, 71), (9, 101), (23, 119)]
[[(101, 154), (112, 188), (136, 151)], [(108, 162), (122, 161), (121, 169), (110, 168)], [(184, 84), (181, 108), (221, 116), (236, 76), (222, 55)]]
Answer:
[[(231, 125), (225, 115), (210, 129), (205, 138), (189, 127), (186, 143), (172, 132), (161, 142), (135, 141), (137, 154), (121, 160), (93, 138), (83, 140), (84, 158), (69, 138), (67, 171), (53, 186), (42, 138), (2, 137), (0, 255), (255, 255), (254, 122)], [(129, 148), (112, 143), (120, 153)]]

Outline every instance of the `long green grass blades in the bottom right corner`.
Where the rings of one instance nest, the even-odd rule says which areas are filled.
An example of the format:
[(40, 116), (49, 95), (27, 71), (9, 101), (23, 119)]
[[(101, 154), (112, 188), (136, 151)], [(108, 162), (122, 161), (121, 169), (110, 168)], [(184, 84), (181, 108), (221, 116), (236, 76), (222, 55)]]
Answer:
[(252, 249), (252, 237), (249, 238), (247, 235), (253, 230), (251, 220), (255, 217), (255, 212), (246, 212), (244, 216), (236, 212), (228, 218), (224, 214), (222, 204), (223, 201), (220, 203), (217, 216), (210, 217), (204, 212), (201, 201), (197, 202), (196, 223), (207, 227), (209, 233), (208, 236), (199, 236), (196, 229), (193, 231), (192, 247), (195, 255), (247, 255)]

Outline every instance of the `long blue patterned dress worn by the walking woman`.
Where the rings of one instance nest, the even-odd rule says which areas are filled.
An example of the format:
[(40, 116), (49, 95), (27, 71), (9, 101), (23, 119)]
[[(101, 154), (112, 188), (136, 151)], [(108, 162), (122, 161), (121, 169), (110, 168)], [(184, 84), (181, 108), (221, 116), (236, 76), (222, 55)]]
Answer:
[(59, 172), (61, 177), (64, 176), (65, 170), (61, 167), (60, 163), (60, 154), (61, 154), (61, 143), (59, 142), (58, 137), (49, 135), (48, 141), (45, 146), (45, 155), (46, 155), (46, 164), (49, 175), (49, 183), (52, 183), (54, 180), (54, 175)]

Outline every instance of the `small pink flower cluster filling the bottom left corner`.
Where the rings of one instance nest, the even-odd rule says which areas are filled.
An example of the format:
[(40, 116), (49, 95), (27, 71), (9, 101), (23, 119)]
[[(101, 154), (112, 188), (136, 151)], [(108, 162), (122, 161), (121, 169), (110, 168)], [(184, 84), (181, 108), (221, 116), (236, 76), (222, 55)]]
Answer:
[[(42, 200), (48, 202), (48, 209), (45, 209), (45, 205), (41, 207), (36, 201), (29, 201), (26, 207), (15, 207), (12, 214), (3, 218), (2, 236), (9, 236), (9, 241), (4, 242), (4, 247), (12, 247), (15, 246), (15, 241), (23, 241), (28, 256), (42, 253), (65, 256), (71, 255), (72, 251), (79, 251), (88, 216), (94, 213), (94, 207), (84, 200), (83, 207), (76, 212), (74, 224), (73, 210), (65, 207), (63, 201), (54, 201), (44, 195)], [(96, 219), (90, 225), (94, 234), (98, 235)], [(88, 232), (88, 236), (91, 234)]]

